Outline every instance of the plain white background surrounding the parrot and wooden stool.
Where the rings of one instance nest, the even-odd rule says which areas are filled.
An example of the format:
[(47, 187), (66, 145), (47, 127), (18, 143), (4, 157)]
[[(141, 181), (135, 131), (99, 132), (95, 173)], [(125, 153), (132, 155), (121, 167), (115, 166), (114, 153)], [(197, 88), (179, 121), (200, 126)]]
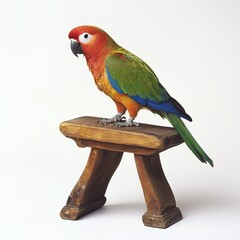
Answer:
[[(239, 1), (5, 0), (0, 3), (0, 239), (239, 239)], [(89, 149), (58, 130), (115, 106), (93, 83), (68, 32), (105, 29), (144, 59), (192, 116), (193, 135), (215, 162), (185, 144), (162, 164), (184, 219), (145, 227), (133, 156), (125, 154), (101, 210), (79, 221), (59, 217)], [(143, 111), (137, 121), (168, 123)]]

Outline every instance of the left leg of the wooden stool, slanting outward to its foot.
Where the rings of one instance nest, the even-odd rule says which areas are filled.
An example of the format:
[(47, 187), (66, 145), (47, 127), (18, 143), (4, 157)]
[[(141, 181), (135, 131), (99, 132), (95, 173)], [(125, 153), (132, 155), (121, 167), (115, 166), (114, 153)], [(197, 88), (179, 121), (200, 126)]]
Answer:
[(105, 204), (104, 195), (108, 183), (121, 161), (122, 154), (91, 149), (87, 165), (60, 213), (61, 218), (76, 220)]

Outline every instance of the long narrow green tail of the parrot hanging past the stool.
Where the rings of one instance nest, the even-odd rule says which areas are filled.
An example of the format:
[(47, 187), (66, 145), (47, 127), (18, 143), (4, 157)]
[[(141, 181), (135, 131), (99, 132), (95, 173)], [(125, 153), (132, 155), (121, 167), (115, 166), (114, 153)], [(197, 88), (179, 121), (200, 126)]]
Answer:
[(213, 167), (212, 159), (200, 147), (200, 145), (194, 139), (190, 131), (187, 129), (184, 122), (181, 120), (181, 118), (172, 113), (166, 113), (164, 114), (164, 117), (167, 118), (168, 121), (177, 130), (179, 135), (182, 137), (183, 141), (187, 144), (187, 146), (191, 149), (191, 151), (195, 154), (195, 156), (201, 162), (204, 162), (204, 163), (208, 162)]

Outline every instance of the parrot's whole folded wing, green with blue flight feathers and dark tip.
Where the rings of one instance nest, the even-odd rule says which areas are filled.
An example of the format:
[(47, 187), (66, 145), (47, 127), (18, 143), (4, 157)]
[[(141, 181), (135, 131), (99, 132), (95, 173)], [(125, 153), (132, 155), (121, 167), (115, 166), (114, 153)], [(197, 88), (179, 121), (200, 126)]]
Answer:
[[(191, 117), (158, 81), (153, 70), (140, 58), (122, 50), (106, 60), (107, 77), (119, 93), (127, 94), (139, 104), (161, 115), (174, 113), (191, 121)], [(162, 115), (161, 115), (162, 116)]]

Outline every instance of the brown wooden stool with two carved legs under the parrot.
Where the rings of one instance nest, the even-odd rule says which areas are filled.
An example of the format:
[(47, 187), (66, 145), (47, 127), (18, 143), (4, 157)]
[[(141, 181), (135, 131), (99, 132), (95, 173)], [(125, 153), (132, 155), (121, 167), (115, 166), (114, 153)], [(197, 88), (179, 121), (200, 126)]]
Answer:
[(60, 216), (76, 220), (101, 208), (108, 183), (123, 152), (134, 153), (147, 204), (146, 226), (167, 228), (182, 219), (161, 167), (159, 153), (183, 141), (173, 128), (141, 124), (117, 128), (97, 124), (99, 118), (80, 117), (61, 123), (61, 132), (79, 147), (91, 147), (87, 165)]

